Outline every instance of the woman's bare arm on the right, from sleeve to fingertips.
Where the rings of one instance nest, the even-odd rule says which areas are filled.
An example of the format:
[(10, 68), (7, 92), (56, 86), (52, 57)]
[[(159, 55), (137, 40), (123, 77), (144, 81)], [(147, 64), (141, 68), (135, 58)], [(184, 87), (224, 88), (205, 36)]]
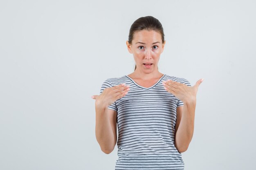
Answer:
[[(185, 79), (186, 80), (186, 79)], [(180, 99), (184, 106), (177, 107), (177, 127), (175, 126), (175, 147), (179, 152), (185, 152), (193, 137), (196, 93), (204, 79), (199, 79), (194, 86), (168, 79), (163, 82), (164, 89)], [(179, 121), (179, 122), (177, 122)]]

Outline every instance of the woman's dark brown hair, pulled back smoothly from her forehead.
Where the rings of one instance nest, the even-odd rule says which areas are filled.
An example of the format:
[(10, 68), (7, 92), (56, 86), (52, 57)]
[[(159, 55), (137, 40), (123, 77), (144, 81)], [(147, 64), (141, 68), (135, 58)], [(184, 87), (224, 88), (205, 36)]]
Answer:
[[(144, 29), (146, 29), (148, 31), (150, 31), (150, 30), (158, 31), (162, 36), (162, 43), (164, 43), (164, 29), (163, 29), (162, 24), (159, 22), (159, 20), (157, 20), (153, 16), (146, 16), (146, 17), (138, 18), (131, 25), (129, 37), (128, 37), (129, 44), (132, 44), (132, 39), (133, 39), (134, 33), (136, 31), (141, 31)], [(136, 70), (136, 65), (135, 65), (134, 70)]]

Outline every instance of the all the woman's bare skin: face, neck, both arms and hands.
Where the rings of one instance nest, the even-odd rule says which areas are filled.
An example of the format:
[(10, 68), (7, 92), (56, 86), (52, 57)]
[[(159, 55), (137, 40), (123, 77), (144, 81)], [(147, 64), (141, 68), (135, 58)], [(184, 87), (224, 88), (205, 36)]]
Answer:
[[(155, 43), (157, 42), (157, 43)], [(166, 41), (162, 43), (161, 34), (153, 30), (142, 30), (134, 33), (132, 43), (126, 41), (129, 53), (133, 54), (136, 70), (128, 75), (135, 82), (144, 87), (155, 84), (162, 73), (157, 69), (160, 54), (164, 50)], [(143, 63), (153, 63), (150, 68), (146, 68)], [(193, 137), (196, 94), (203, 79), (199, 79), (194, 86), (167, 80), (163, 82), (164, 89), (182, 100), (184, 106), (177, 108), (177, 119), (175, 125), (175, 147), (179, 152), (185, 152), (189, 147)], [(105, 91), (105, 92), (104, 92)], [(93, 95), (96, 99), (96, 136), (103, 152), (109, 154), (114, 150), (117, 142), (117, 112), (108, 109), (108, 105), (117, 99), (124, 97), (129, 91), (128, 86), (118, 85), (105, 88), (101, 95)], [(106, 112), (108, 110), (108, 112)], [(105, 114), (105, 117), (104, 117)], [(108, 121), (104, 121), (108, 114)], [(106, 124), (106, 125), (103, 125)], [(103, 134), (105, 137), (102, 137)], [(108, 137), (108, 140), (106, 140)], [(105, 149), (103, 149), (105, 148)]]

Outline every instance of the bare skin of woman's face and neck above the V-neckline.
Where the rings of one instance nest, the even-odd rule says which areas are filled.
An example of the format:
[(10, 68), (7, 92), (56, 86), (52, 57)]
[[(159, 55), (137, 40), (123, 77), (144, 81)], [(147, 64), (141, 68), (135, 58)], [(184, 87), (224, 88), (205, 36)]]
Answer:
[[(164, 51), (165, 43), (166, 41), (162, 43), (161, 34), (157, 31), (142, 30), (135, 32), (132, 43), (129, 44), (126, 41), (126, 45), (129, 53), (133, 54), (137, 68), (128, 76), (144, 87), (150, 87), (150, 84), (153, 85), (157, 82), (164, 75), (158, 71), (157, 64), (160, 54)], [(143, 64), (146, 62), (153, 64), (150, 68), (146, 68)]]

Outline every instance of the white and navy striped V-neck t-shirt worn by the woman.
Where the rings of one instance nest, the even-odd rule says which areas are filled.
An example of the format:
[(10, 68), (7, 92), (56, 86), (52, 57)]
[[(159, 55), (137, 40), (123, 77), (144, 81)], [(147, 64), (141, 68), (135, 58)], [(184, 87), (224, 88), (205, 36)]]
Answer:
[(153, 86), (145, 88), (128, 75), (106, 79), (105, 88), (125, 83), (130, 90), (108, 106), (117, 111), (118, 159), (115, 170), (184, 170), (182, 154), (175, 148), (177, 107), (183, 102), (167, 92), (163, 81), (191, 86), (184, 78), (164, 74)]

